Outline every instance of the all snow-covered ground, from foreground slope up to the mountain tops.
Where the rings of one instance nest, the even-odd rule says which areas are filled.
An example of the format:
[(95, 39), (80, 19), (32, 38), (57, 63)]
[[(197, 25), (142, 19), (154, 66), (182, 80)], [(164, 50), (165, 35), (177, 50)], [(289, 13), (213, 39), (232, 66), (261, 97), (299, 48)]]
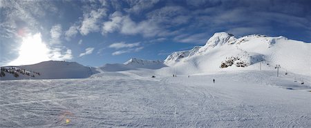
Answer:
[(219, 32), (165, 61), (20, 66), (80, 79), (0, 81), (0, 127), (311, 127), (310, 46)]

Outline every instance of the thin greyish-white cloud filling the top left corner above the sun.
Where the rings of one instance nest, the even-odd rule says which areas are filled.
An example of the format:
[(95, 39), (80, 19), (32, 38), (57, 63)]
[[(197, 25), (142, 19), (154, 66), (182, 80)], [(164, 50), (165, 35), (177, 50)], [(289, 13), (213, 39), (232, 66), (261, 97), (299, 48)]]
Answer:
[[(31, 28), (33, 33), (38, 32), (40, 23), (38, 18), (46, 14), (57, 12), (57, 8), (51, 1), (6, 1), (0, 0), (1, 22), (10, 23), (12, 28)], [(1, 30), (2, 28), (0, 28)], [(16, 30), (15, 30), (16, 31)]]

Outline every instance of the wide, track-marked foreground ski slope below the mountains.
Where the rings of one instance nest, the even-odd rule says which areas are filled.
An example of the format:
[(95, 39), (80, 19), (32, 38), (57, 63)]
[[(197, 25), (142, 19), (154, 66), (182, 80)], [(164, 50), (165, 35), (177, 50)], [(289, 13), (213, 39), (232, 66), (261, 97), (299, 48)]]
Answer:
[(311, 127), (310, 81), (263, 74), (0, 81), (0, 127)]

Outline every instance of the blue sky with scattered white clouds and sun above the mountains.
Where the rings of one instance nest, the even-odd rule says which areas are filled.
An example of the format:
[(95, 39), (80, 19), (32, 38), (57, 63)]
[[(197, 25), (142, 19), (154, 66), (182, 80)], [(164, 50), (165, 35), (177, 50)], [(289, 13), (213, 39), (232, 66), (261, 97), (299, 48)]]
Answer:
[(215, 32), (311, 42), (308, 0), (0, 0), (0, 65), (164, 60)]

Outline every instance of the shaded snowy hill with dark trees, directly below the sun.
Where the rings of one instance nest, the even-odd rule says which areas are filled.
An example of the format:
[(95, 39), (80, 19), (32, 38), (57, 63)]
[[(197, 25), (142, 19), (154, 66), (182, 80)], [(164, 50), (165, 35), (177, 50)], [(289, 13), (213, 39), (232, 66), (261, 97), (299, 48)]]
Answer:
[(3, 70), (6, 75), (0, 77), (0, 80), (87, 78), (97, 73), (93, 67), (65, 61), (45, 61), (34, 65), (8, 66), (3, 67)]

